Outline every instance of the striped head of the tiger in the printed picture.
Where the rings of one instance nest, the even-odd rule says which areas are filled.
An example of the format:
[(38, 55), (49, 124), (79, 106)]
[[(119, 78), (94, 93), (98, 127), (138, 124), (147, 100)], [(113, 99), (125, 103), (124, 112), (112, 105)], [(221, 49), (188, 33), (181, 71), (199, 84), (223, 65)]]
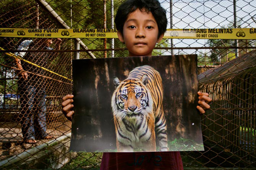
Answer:
[(146, 115), (152, 107), (152, 99), (147, 89), (148, 76), (144, 74), (140, 80), (126, 79), (122, 82), (115, 77), (116, 90), (112, 97), (112, 109), (117, 117), (136, 118)]

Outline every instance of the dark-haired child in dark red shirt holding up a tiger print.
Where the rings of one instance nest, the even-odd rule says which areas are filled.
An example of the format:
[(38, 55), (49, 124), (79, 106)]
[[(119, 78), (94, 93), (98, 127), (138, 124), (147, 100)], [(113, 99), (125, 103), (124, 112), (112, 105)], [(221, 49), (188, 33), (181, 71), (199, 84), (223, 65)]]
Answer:
[[(151, 56), (163, 38), (167, 19), (158, 0), (126, 0), (115, 18), (118, 38), (125, 43), (129, 56)], [(211, 98), (198, 92), (197, 109), (205, 113)], [(63, 97), (63, 113), (71, 120), (73, 95)], [(180, 152), (103, 153), (100, 170), (183, 170)]]

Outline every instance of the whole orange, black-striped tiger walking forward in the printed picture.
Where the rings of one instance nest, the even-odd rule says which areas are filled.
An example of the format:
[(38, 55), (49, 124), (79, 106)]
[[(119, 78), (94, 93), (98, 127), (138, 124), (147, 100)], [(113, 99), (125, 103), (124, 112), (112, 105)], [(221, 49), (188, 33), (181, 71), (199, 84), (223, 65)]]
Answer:
[(113, 82), (116, 89), (111, 106), (117, 151), (132, 152), (137, 147), (156, 151), (156, 136), (160, 151), (168, 151), (160, 73), (145, 65), (133, 69), (124, 81), (114, 77)]

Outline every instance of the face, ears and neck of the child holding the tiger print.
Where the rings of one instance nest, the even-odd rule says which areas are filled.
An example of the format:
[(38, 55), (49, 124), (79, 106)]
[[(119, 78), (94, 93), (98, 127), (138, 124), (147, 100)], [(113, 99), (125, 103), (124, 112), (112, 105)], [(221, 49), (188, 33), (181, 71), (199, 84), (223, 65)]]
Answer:
[(125, 43), (129, 56), (151, 56), (152, 50), (163, 37), (160, 35), (158, 38), (158, 32), (158, 24), (152, 13), (136, 9), (128, 15), (123, 35), (119, 31), (118, 37)]

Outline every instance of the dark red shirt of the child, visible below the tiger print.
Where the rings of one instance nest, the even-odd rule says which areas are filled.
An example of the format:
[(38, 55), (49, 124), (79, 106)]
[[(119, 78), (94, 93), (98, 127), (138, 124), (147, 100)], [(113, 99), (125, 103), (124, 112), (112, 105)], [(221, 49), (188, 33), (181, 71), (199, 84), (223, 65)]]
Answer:
[(183, 170), (180, 152), (106, 152), (100, 170)]

